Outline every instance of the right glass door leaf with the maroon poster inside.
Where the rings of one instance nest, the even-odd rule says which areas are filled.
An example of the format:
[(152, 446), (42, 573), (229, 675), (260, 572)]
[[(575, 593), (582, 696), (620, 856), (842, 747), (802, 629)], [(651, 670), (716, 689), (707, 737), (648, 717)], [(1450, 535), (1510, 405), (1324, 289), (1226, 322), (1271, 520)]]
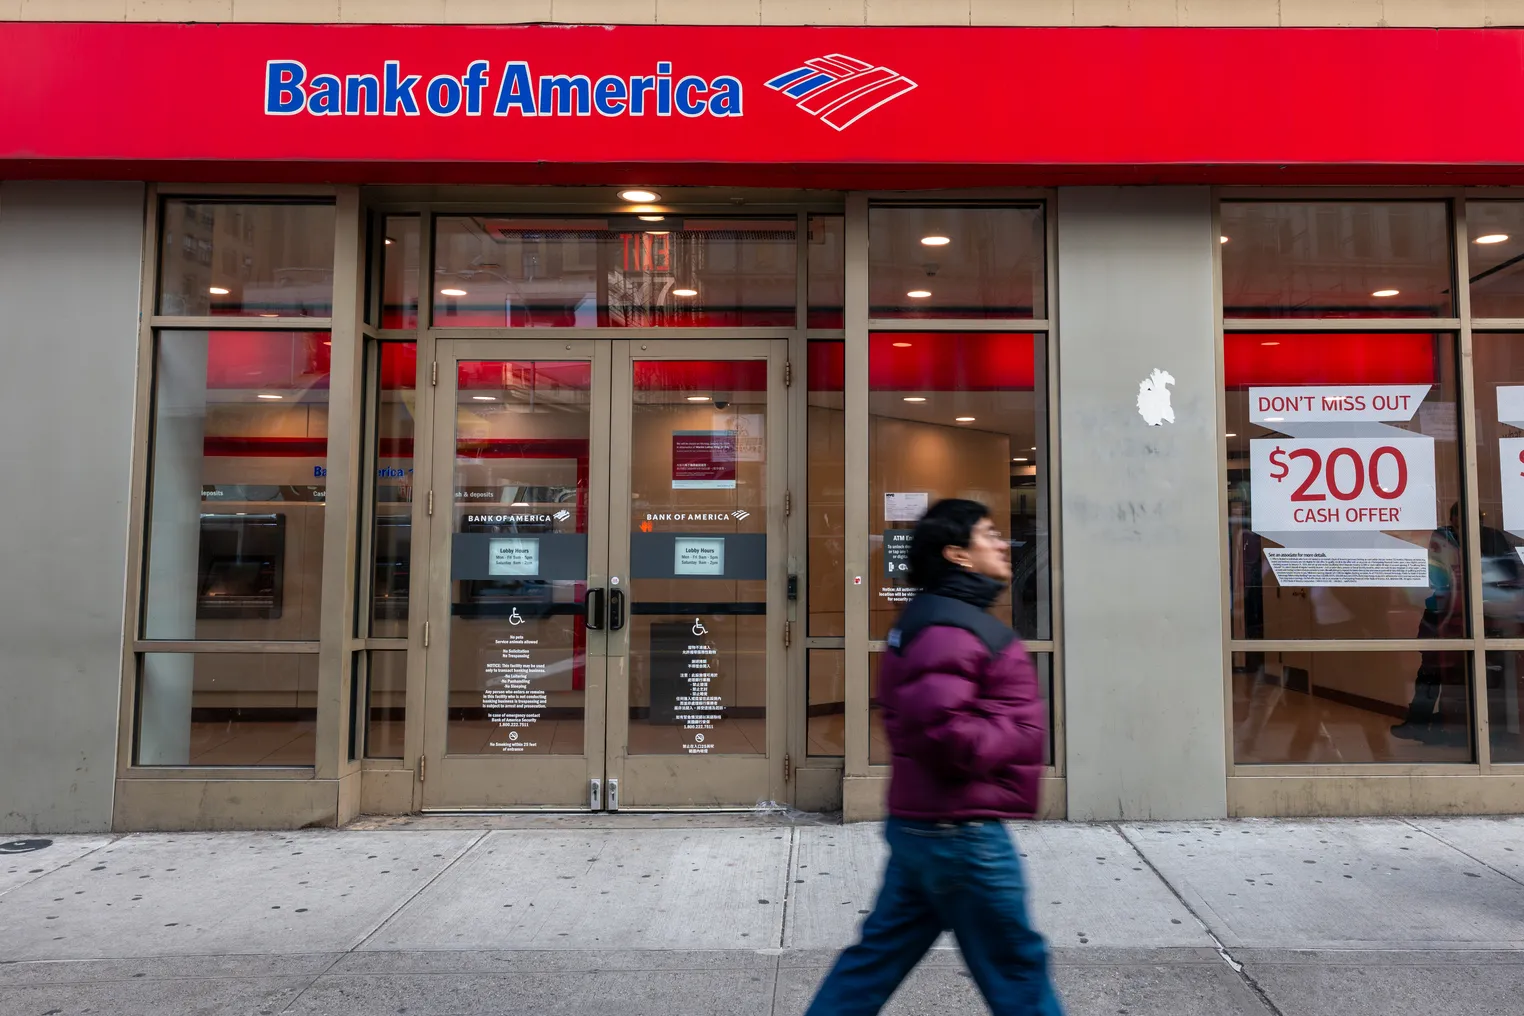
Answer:
[(782, 341), (614, 350), (610, 596), (628, 615), (610, 623), (607, 757), (622, 807), (783, 794), (785, 358)]

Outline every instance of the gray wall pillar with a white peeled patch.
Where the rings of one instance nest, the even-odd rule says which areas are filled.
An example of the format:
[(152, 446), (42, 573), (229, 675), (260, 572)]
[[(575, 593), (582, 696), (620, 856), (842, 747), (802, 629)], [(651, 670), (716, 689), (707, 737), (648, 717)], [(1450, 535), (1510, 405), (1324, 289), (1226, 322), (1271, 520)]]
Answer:
[[(1058, 198), (1071, 820), (1227, 813), (1212, 204), (1205, 187)], [(1167, 370), (1173, 423), (1138, 382)]]

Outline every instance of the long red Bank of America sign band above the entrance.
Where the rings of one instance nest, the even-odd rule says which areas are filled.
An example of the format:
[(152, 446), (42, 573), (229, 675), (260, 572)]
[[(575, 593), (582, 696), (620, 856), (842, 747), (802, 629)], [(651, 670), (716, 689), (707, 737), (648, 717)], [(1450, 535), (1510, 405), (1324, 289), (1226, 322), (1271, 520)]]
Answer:
[(5, 23), (0, 49), (8, 177), (1524, 180), (1512, 29)]

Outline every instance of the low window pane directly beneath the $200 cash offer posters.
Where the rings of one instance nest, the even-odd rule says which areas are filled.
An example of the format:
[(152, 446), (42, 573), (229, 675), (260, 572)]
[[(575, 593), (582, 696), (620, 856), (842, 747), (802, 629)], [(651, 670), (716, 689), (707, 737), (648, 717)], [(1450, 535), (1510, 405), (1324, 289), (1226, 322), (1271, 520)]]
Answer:
[(1233, 653), (1239, 765), (1471, 762), (1458, 650)]

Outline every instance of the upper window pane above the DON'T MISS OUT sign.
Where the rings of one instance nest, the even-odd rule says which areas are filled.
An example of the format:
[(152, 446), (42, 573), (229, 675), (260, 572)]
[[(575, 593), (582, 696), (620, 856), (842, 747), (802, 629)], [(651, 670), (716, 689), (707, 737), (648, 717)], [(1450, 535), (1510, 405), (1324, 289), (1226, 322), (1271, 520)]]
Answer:
[(1225, 317), (1452, 317), (1443, 201), (1224, 201)]

